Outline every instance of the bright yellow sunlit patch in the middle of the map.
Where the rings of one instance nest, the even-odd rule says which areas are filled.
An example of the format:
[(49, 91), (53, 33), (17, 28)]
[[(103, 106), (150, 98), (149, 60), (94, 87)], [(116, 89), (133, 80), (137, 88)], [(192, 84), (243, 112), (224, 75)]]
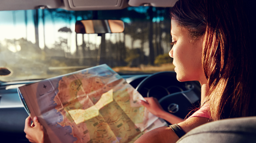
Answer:
[(109, 90), (106, 93), (103, 93), (99, 101), (95, 105), (85, 110), (83, 109), (69, 110), (68, 113), (70, 114), (72, 119), (75, 121), (75, 124), (79, 124), (81, 122), (84, 122), (86, 120), (89, 120), (98, 116), (99, 109), (111, 103), (112, 101), (113, 101), (113, 89)]

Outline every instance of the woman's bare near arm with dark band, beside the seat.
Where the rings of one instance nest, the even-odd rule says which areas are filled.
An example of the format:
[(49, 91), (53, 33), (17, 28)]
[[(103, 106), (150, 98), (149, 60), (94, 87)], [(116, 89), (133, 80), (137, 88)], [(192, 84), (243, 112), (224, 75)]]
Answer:
[[(185, 133), (187, 133), (193, 128), (207, 123), (208, 121), (209, 118), (193, 117), (179, 123), (178, 125)], [(175, 134), (171, 127), (165, 126), (147, 132), (146, 134), (140, 136), (134, 143), (175, 143), (178, 139), (179, 137)]]

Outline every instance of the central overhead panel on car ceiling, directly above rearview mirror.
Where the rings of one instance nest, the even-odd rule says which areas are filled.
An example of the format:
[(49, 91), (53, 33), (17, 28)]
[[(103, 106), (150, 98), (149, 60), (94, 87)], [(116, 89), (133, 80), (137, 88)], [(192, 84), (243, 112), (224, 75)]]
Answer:
[(64, 0), (67, 10), (108, 10), (123, 9), (127, 0)]

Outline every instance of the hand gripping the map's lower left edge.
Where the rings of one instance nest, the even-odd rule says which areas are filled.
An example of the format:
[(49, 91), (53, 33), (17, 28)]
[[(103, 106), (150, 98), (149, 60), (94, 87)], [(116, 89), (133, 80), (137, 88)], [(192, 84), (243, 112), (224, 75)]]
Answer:
[(24, 132), (26, 133), (26, 138), (32, 143), (50, 143), (46, 130), (39, 123), (37, 117), (33, 118), (32, 124), (30, 116), (25, 120)]

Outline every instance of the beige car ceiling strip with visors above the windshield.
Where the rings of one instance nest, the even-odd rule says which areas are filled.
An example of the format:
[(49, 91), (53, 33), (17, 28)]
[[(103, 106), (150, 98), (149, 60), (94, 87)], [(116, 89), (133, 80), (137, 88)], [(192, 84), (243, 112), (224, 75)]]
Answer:
[(108, 10), (129, 6), (172, 7), (177, 0), (1, 0), (0, 10), (63, 8), (66, 10)]

